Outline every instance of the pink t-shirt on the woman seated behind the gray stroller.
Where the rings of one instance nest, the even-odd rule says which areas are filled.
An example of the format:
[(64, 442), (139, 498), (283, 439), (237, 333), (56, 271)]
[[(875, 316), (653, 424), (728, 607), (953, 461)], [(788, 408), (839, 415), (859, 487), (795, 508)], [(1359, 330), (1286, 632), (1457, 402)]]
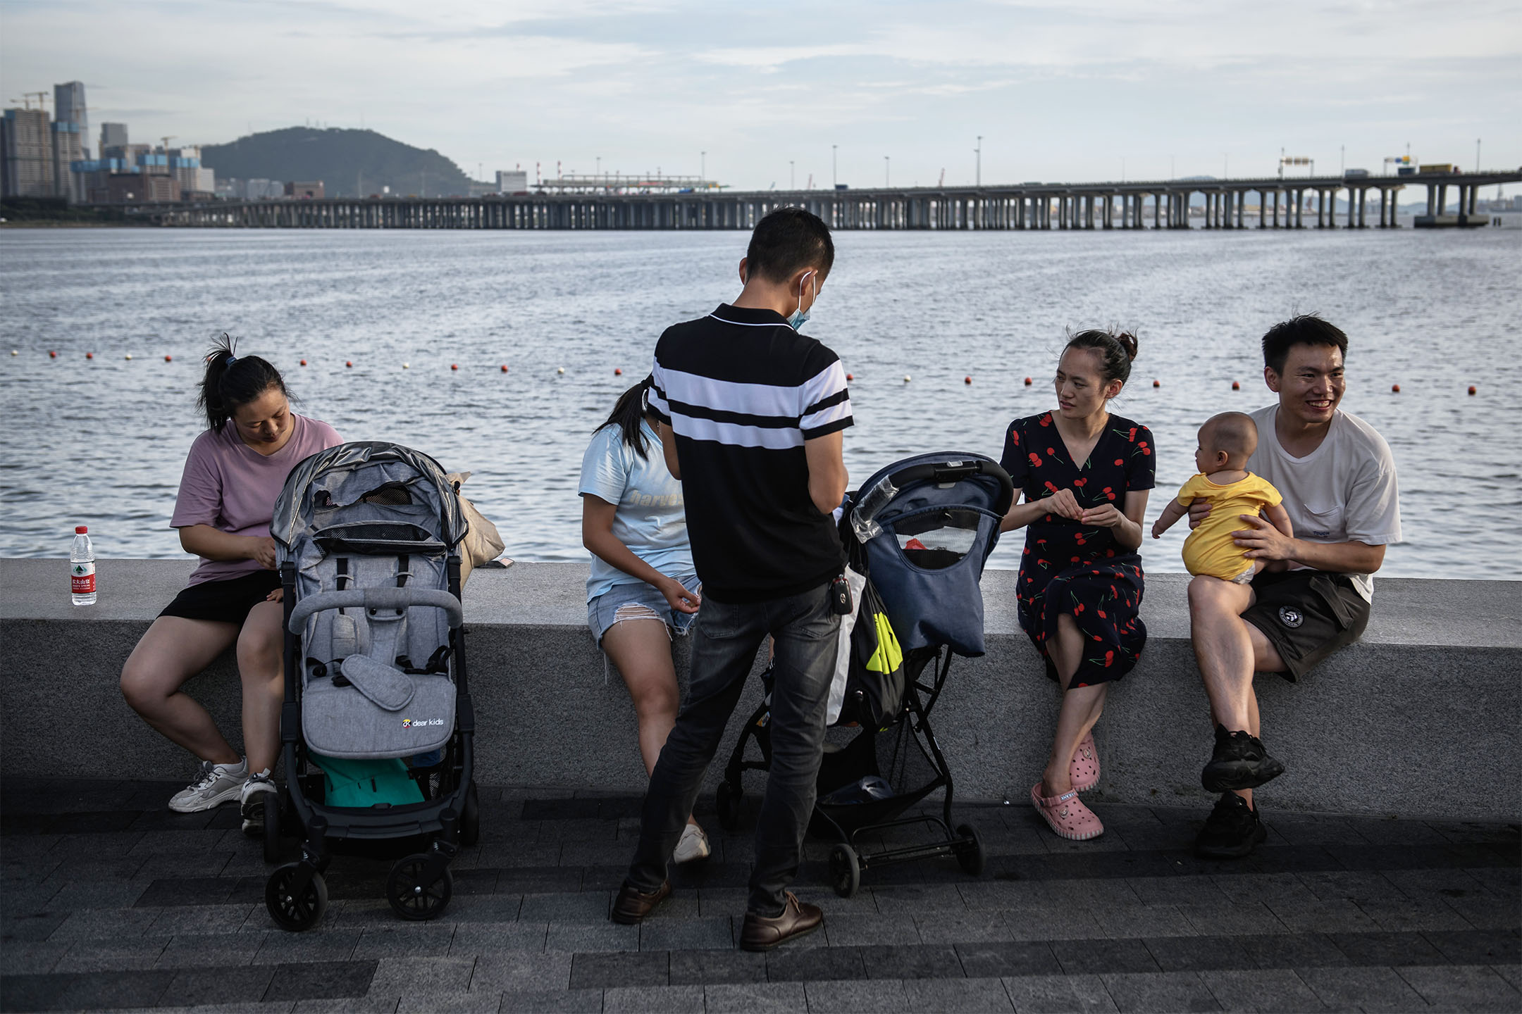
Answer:
[[(295, 432), (275, 453), (260, 455), (237, 436), (233, 423), (222, 432), (207, 430), (190, 444), (186, 471), (180, 477), (175, 515), (169, 528), (210, 524), (228, 535), (269, 537), (269, 520), (286, 476), (303, 459), (342, 444), (344, 438), (318, 420), (291, 414)], [(227, 581), (259, 570), (254, 559), (207, 559), (190, 575), (190, 584)]]

